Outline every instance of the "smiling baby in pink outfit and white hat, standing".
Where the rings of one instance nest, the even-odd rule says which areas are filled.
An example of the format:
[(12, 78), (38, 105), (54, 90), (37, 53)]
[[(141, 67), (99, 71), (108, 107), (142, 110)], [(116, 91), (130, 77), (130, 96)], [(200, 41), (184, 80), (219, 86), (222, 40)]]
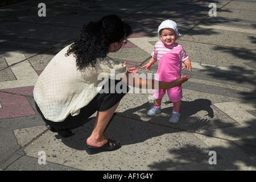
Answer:
[[(191, 61), (185, 53), (183, 47), (176, 43), (176, 40), (181, 37), (177, 29), (177, 24), (172, 20), (164, 20), (158, 27), (158, 37), (160, 40), (155, 44), (154, 51), (151, 53), (151, 60), (141, 68), (150, 69), (151, 65), (158, 61), (158, 71), (156, 72), (155, 80), (171, 82), (180, 77), (182, 69), (191, 71)], [(154, 90), (152, 92), (154, 99), (154, 107), (147, 111), (148, 115), (160, 113), (161, 101), (166, 93), (166, 89)], [(181, 86), (167, 89), (167, 94), (170, 101), (174, 103), (172, 116), (169, 119), (172, 123), (179, 122), (180, 106), (182, 99)]]

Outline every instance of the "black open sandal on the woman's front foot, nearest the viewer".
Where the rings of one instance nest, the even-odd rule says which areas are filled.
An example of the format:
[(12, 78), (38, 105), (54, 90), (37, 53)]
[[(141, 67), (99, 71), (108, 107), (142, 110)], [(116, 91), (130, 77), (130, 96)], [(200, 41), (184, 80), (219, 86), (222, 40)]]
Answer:
[(93, 146), (89, 146), (89, 144), (86, 144), (85, 150), (89, 155), (92, 155), (92, 154), (98, 154), (99, 152), (114, 151), (114, 150), (117, 150), (118, 148), (121, 148), (121, 144), (119, 142), (116, 142), (112, 139), (108, 139), (108, 142), (106, 142), (101, 147), (93, 147)]

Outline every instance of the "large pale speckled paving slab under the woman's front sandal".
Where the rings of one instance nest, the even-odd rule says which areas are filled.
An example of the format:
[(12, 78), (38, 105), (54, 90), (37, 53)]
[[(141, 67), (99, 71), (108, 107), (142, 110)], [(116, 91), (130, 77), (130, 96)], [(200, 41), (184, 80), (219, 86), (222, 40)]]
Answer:
[[(208, 161), (207, 154), (211, 150), (191, 133), (115, 116), (106, 135), (119, 138), (122, 147), (114, 152), (88, 155), (85, 141), (92, 127), (93, 122), (89, 122), (76, 129), (76, 135), (68, 139), (56, 138), (54, 133), (47, 132), (24, 152), (38, 158), (38, 152), (43, 150), (47, 161), (82, 170), (163, 170), (170, 165)], [(34, 128), (15, 131), (22, 138), (34, 132)], [(184, 152), (188, 150), (184, 148), (190, 147), (192, 153)], [(170, 154), (166, 155), (168, 152)], [(169, 160), (174, 161), (170, 164)]]

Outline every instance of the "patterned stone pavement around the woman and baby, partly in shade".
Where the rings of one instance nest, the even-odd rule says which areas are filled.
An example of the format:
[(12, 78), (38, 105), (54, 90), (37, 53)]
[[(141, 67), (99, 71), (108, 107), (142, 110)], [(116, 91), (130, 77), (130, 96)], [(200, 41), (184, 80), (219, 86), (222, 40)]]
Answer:
[[(39, 16), (40, 2), (46, 16)], [(256, 1), (24, 1), (0, 7), (0, 169), (27, 170), (255, 170)], [(95, 115), (70, 138), (48, 131), (32, 90), (40, 73), (83, 23), (117, 14), (131, 24), (129, 43), (110, 57), (130, 66), (146, 60), (166, 19), (178, 24), (180, 43), (192, 61), (183, 84), (180, 122), (168, 122), (172, 103), (148, 117), (153, 101), (131, 90), (106, 130), (122, 147), (88, 155), (86, 138)], [(152, 74), (157, 65), (146, 72)], [(138, 93), (139, 92), (139, 93)], [(46, 164), (39, 164), (46, 154)], [(215, 158), (216, 157), (216, 158)], [(216, 160), (215, 160), (216, 159)], [(216, 164), (210, 164), (216, 162)], [(104, 176), (98, 176), (100, 179)]]

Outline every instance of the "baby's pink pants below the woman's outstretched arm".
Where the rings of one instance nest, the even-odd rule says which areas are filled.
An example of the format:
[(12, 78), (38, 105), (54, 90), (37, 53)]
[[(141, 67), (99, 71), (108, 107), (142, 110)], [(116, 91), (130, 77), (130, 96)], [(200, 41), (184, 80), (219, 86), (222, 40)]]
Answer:
[(171, 88), (171, 89), (153, 90), (152, 96), (155, 99), (162, 99), (164, 94), (166, 94), (166, 90), (167, 90), (167, 94), (168, 94), (171, 102), (179, 102), (182, 99), (182, 88), (181, 88), (181, 86), (176, 86), (176, 87)]

